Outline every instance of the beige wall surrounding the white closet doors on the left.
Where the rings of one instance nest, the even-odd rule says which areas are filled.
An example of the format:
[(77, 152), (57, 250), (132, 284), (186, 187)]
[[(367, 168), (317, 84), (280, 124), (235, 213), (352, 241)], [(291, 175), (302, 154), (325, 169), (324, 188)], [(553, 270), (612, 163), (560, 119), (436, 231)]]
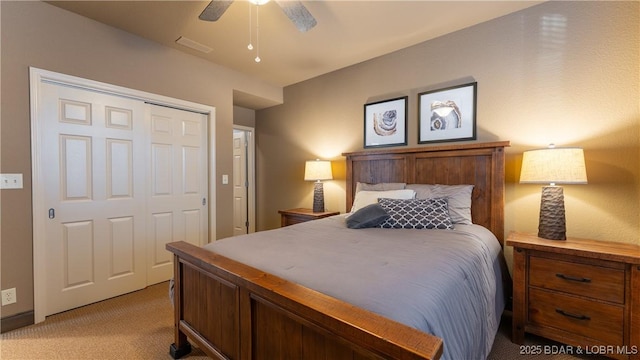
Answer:
[(207, 63), (41, 2), (0, 2), (2, 55), (1, 171), (24, 174), (24, 189), (2, 191), (1, 286), (15, 287), (18, 303), (2, 317), (33, 309), (29, 66), (216, 108), (216, 238), (233, 234), (233, 93), (282, 102), (282, 89)]

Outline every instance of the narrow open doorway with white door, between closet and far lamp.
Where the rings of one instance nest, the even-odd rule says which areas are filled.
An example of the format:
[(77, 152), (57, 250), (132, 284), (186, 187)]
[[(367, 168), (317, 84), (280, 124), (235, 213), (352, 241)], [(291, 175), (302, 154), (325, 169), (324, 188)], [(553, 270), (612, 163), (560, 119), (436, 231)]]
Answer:
[(233, 126), (233, 235), (255, 232), (254, 128)]

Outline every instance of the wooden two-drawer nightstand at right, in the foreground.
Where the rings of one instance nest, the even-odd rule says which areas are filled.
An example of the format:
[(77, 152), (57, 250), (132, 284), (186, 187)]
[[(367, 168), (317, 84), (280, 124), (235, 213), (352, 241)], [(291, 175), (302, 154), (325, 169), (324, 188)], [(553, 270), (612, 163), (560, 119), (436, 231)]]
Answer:
[(506, 244), (514, 343), (528, 332), (582, 354), (640, 359), (640, 246), (515, 232)]

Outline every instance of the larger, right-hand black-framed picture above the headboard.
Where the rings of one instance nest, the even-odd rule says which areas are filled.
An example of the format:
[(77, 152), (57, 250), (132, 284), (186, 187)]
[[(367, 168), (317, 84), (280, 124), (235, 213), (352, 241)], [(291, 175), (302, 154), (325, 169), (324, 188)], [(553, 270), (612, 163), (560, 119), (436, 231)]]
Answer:
[(418, 94), (418, 143), (476, 139), (478, 83)]

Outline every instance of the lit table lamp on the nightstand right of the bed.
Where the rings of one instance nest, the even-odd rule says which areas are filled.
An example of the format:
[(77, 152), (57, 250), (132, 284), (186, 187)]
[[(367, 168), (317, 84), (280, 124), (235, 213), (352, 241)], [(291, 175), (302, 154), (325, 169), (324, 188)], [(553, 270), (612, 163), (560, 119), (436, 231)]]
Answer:
[(581, 148), (529, 150), (523, 153), (521, 184), (549, 184), (542, 187), (538, 237), (566, 240), (564, 193), (557, 184), (586, 184), (587, 171)]

